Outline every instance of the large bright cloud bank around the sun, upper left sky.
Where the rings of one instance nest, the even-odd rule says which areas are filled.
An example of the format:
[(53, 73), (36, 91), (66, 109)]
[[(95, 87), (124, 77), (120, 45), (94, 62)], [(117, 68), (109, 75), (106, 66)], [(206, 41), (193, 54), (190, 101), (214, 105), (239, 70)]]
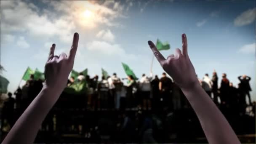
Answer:
[[(52, 9), (40, 8), (29, 1), (1, 1), (1, 34), (26, 32), (32, 37), (49, 39), (57, 37), (63, 43), (69, 43), (75, 29), (94, 28), (99, 24), (120, 27), (114, 20), (123, 16), (123, 6), (108, 8), (91, 1), (44, 1)], [(111, 4), (113, 1), (106, 2)], [(86, 18), (84, 11), (92, 12)], [(60, 14), (56, 14), (60, 13)]]

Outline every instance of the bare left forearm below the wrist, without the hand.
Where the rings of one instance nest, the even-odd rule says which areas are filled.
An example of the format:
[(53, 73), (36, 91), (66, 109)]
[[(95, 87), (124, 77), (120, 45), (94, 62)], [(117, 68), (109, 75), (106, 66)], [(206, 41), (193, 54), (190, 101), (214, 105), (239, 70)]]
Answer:
[[(58, 95), (58, 96), (57, 96)], [(60, 92), (42, 88), (25, 112), (19, 117), (3, 144), (32, 144), (44, 118), (53, 107)]]

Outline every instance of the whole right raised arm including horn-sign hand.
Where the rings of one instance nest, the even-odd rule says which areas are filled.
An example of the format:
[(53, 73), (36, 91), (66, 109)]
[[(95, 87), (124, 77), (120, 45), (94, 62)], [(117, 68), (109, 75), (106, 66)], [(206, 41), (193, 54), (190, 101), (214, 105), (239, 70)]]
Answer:
[(157, 50), (152, 41), (148, 41), (148, 44), (160, 65), (181, 88), (195, 110), (208, 142), (210, 144), (240, 144), (225, 117), (197, 80), (195, 69), (187, 52), (186, 35), (182, 35), (182, 53), (177, 48), (175, 55), (171, 54), (167, 59)]

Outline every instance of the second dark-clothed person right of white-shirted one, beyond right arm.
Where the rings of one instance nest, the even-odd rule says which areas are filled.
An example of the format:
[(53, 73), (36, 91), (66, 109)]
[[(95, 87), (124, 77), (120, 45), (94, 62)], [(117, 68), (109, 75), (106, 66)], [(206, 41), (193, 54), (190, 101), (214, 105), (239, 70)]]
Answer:
[(220, 87), (220, 98), (221, 98), (221, 104), (227, 104), (228, 99), (228, 91), (229, 91), (229, 80), (227, 79), (227, 74), (222, 74), (222, 80), (221, 80), (221, 87)]

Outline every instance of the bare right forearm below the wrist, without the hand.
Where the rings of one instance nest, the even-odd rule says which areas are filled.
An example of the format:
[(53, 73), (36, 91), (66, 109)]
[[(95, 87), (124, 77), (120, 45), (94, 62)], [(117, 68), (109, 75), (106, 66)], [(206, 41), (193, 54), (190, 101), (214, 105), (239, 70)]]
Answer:
[(202, 125), (210, 144), (240, 144), (235, 132), (203, 88), (181, 88)]

